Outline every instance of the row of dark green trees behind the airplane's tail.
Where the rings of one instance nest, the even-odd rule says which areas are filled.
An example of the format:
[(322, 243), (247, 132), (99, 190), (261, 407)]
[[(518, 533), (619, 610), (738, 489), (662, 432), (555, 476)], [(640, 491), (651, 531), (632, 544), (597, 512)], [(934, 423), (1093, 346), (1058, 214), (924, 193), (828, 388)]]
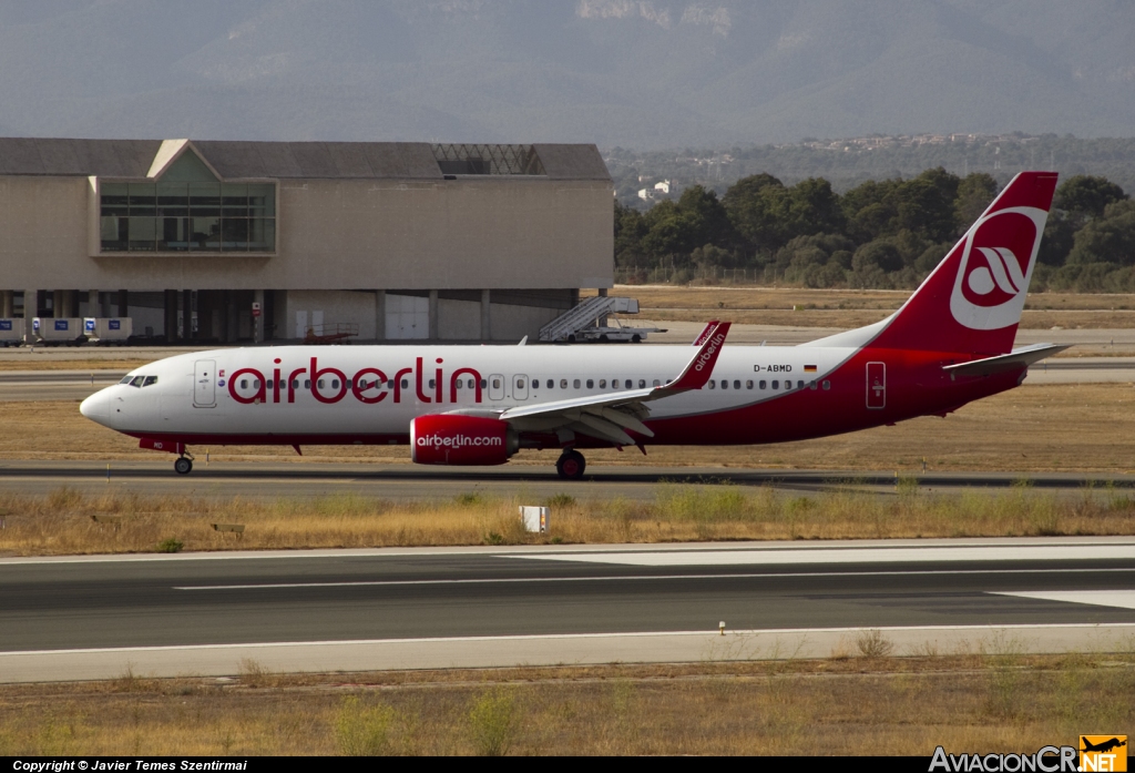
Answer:
[[(804, 287), (914, 288), (993, 201), (997, 180), (939, 167), (842, 195), (768, 174), (721, 198), (701, 185), (646, 212), (615, 202), (615, 267), (630, 284), (729, 275)], [(1135, 292), (1135, 201), (1104, 177), (1057, 188), (1032, 289)]]

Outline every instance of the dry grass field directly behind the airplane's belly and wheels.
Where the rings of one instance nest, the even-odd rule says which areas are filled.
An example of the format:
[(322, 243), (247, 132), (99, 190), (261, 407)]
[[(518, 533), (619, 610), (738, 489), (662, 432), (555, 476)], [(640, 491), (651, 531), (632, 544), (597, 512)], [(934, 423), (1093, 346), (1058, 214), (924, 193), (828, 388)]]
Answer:
[[(0, 404), (0, 459), (115, 461), (163, 459), (137, 442), (84, 419), (77, 402)], [(207, 448), (194, 447), (203, 455)], [(215, 460), (409, 463), (404, 446), (213, 447)], [(830, 438), (765, 446), (658, 446), (590, 451), (592, 465), (751, 467), (822, 470), (1135, 471), (1135, 388), (1128, 384), (1025, 385), (962, 407)], [(554, 452), (521, 452), (510, 464), (550, 465)]]

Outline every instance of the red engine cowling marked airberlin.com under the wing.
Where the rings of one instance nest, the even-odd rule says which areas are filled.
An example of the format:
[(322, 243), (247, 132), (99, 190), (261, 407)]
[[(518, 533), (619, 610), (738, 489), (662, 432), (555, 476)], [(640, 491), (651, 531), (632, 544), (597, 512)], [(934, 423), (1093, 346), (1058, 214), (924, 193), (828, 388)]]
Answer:
[(410, 422), (410, 459), (418, 464), (504, 464), (514, 453), (507, 421), (431, 414)]

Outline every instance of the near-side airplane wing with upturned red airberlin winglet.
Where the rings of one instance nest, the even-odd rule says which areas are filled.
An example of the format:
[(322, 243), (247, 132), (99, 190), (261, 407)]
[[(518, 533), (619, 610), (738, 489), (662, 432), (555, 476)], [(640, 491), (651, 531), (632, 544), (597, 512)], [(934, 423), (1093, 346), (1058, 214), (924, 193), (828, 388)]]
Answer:
[(730, 325), (720, 322), (708, 335), (704, 335), (705, 341), (682, 372), (663, 386), (521, 405), (506, 410), (499, 418), (522, 431), (569, 430), (617, 445), (634, 445), (634, 439), (625, 430), (654, 437), (650, 428), (642, 423), (642, 420), (650, 415), (646, 403), (700, 389), (708, 383), (725, 343), (725, 336), (729, 335)]

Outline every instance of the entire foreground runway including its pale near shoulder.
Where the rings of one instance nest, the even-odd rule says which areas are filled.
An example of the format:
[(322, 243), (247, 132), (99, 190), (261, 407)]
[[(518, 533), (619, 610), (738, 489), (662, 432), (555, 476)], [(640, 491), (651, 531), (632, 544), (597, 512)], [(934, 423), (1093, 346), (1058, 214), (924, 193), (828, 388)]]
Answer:
[(1135, 640), (1133, 538), (6, 558), (0, 587), (8, 682)]

